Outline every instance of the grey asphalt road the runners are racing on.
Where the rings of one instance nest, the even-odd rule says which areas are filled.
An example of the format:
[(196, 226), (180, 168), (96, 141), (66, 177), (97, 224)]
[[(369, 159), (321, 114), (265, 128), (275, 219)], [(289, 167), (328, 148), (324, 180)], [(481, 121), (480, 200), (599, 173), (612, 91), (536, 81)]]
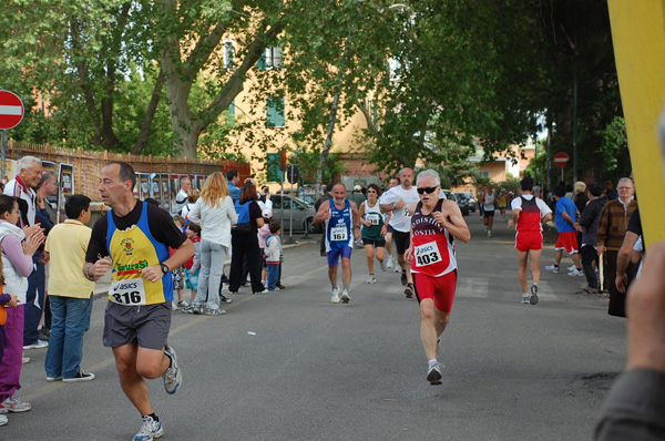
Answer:
[[(285, 252), (286, 290), (241, 290), (221, 317), (173, 314), (183, 387), (168, 396), (149, 382), (163, 439), (589, 440), (625, 362), (624, 321), (565, 273), (543, 273), (539, 305), (520, 304), (514, 232), (498, 222), (488, 238), (478, 214), (466, 219), (441, 386), (424, 379), (418, 305), (398, 275), (364, 284), (355, 250), (351, 301), (332, 305), (325, 258), (307, 245)], [(546, 245), (541, 267), (553, 255)], [(105, 304), (85, 337), (96, 379), (47, 382), (45, 350), (28, 351), (17, 396), (32, 410), (10, 414), (1, 440), (132, 439), (141, 420), (102, 346)]]

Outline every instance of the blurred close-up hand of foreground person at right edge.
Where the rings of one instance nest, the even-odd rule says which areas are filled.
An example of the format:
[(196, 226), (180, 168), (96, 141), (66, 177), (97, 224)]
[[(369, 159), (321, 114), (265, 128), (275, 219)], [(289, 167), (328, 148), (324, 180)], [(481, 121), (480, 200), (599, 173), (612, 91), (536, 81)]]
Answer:
[(627, 369), (665, 372), (665, 240), (654, 244), (627, 295)]

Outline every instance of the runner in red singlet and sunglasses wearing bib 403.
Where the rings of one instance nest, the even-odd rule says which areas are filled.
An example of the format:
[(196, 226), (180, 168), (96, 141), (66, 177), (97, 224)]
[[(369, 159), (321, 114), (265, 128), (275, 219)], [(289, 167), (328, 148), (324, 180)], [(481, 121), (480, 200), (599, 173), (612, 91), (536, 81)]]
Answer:
[(437, 360), (437, 341), (448, 326), (454, 298), (454, 239), (469, 242), (471, 233), (457, 203), (439, 199), (441, 181), (437, 172), (420, 172), (416, 185), (420, 202), (408, 206), (411, 240), (405, 257), (411, 261), (413, 288), (420, 305), (420, 340), (428, 359), (427, 380), (441, 384), (442, 365)]

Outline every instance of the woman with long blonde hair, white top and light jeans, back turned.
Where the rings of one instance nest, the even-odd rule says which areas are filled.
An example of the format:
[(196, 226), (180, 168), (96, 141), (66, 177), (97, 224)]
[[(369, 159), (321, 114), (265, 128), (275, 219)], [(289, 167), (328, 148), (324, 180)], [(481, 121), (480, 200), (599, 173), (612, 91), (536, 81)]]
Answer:
[[(201, 226), (201, 274), (198, 293), (194, 304), (187, 307), (194, 314), (219, 316), (226, 314), (221, 302), (231, 302), (221, 295), (219, 284), (224, 260), (231, 246), (231, 226), (238, 216), (228, 195), (226, 177), (215, 172), (205, 180), (201, 197), (192, 207), (187, 218)], [(205, 308), (204, 308), (205, 304)]]

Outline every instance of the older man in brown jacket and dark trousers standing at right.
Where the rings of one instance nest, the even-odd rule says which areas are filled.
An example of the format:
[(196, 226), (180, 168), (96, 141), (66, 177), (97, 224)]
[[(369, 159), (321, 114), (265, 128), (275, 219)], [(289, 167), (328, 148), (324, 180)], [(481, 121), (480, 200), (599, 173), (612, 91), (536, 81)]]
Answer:
[[(605, 284), (610, 290), (610, 307), (607, 314), (611, 316), (626, 316), (626, 294), (620, 293), (615, 285), (616, 258), (623, 244), (628, 221), (637, 208), (637, 202), (633, 199), (635, 187), (628, 177), (622, 177), (616, 185), (618, 198), (610, 201), (603, 208), (601, 223), (598, 225), (597, 252), (603, 255)], [(626, 274), (628, 283), (635, 278), (636, 265), (628, 266)]]

